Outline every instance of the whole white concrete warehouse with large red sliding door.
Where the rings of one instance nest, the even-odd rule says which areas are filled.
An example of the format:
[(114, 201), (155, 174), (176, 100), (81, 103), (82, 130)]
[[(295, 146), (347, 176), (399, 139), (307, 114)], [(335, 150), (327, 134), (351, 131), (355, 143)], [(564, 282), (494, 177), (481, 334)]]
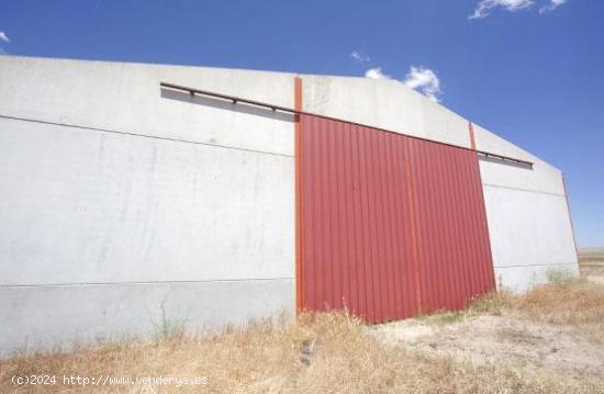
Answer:
[(579, 273), (563, 177), (394, 80), (0, 57), (0, 349)]

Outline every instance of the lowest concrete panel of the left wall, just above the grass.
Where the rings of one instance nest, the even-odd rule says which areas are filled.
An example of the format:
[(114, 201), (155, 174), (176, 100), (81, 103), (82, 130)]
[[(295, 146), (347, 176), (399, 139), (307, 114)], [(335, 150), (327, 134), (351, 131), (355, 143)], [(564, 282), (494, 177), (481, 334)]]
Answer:
[[(194, 333), (249, 318), (294, 315), (294, 281), (0, 286), (0, 357), (68, 349), (75, 341), (153, 335), (161, 308)], [(9, 323), (9, 324), (7, 324)]]

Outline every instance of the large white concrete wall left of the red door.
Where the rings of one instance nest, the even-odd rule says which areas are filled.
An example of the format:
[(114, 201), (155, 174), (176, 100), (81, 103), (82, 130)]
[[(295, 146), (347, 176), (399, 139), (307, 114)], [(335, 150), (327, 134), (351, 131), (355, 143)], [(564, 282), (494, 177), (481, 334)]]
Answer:
[(0, 352), (292, 314), (292, 79), (0, 57)]

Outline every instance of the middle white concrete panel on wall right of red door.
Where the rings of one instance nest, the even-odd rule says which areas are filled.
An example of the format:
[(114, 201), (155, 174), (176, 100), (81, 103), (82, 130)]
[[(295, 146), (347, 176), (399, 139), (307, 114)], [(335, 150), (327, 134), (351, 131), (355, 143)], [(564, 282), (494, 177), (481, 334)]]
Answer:
[(495, 267), (577, 263), (563, 195), (484, 187)]

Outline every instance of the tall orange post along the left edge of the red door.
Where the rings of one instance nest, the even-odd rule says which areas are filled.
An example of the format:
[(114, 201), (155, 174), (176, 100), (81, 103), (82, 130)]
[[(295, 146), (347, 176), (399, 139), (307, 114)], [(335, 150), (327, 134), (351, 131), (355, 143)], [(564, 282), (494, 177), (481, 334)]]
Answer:
[[(302, 111), (302, 78), (293, 79), (293, 106), (295, 111)], [(295, 172), (295, 313), (300, 314), (304, 308), (304, 286), (302, 270), (302, 127), (300, 114), (294, 115), (294, 172)]]

